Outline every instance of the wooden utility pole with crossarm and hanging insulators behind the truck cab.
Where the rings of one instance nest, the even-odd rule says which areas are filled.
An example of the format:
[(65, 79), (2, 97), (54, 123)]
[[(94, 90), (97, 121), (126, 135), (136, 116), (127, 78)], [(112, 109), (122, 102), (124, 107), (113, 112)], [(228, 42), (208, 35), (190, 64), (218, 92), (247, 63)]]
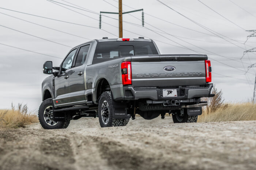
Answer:
[(123, 38), (123, 14), (125, 13), (132, 13), (132, 12), (138, 12), (138, 11), (142, 11), (142, 27), (144, 27), (144, 12), (143, 9), (138, 9), (138, 10), (134, 10), (134, 11), (128, 11), (128, 12), (123, 12), (122, 9), (122, 0), (118, 0), (118, 12), (100, 12), (99, 15), (99, 29), (101, 29), (102, 24), (102, 13), (108, 13), (108, 14), (118, 14), (119, 15), (119, 38)]

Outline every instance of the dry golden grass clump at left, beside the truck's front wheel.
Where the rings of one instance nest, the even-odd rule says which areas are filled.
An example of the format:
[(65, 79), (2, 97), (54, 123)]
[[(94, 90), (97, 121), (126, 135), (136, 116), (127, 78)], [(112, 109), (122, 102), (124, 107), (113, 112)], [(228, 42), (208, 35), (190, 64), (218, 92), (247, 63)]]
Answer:
[(12, 104), (11, 110), (0, 110), (0, 127), (19, 128), (27, 124), (38, 122), (38, 117), (29, 112), (27, 105), (18, 104), (15, 107)]

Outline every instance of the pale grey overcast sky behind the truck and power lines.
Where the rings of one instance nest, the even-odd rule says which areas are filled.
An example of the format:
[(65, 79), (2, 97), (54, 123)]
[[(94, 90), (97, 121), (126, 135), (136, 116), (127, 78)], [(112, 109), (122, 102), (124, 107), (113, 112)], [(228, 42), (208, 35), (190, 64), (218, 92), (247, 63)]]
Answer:
[[(10, 108), (13, 102), (14, 104), (28, 104), (30, 109), (37, 110), (41, 103), (41, 83), (47, 77), (47, 75), (42, 73), (42, 65), (45, 61), (51, 60), (54, 66), (59, 66), (72, 47), (90, 39), (101, 39), (106, 36), (109, 38), (117, 37), (118, 20), (115, 19), (118, 19), (118, 15), (107, 14), (107, 16), (115, 19), (102, 16), (102, 21), (105, 22), (102, 23), (102, 29), (107, 32), (102, 29), (91, 28), (98, 27), (99, 15), (97, 13), (100, 11), (118, 12), (118, 9), (114, 7), (118, 7), (117, 0), (106, 0), (108, 3), (103, 0), (55, 1), (71, 6), (78, 5), (78, 8), (86, 8), (96, 14), (65, 5), (61, 7), (61, 4), (57, 5), (47, 0), (1, 0), (1, 8), (81, 25), (64, 23), (0, 8), (0, 108)], [(251, 34), (245, 30), (256, 29), (256, 1), (201, 0), (208, 7), (226, 17), (226, 19), (198, 0), (160, 1), (190, 20), (156, 0), (123, 0), (123, 11), (143, 8), (146, 22), (146, 28), (139, 26), (141, 20), (135, 17), (140, 19), (141, 12), (123, 15), (123, 28), (127, 30), (123, 32), (123, 37), (137, 38), (144, 36), (151, 38), (157, 43), (161, 54), (196, 54), (195, 51), (198, 51), (200, 54), (207, 54), (212, 64), (212, 83), (216, 84), (218, 89), (222, 89), (226, 101), (246, 102), (248, 99), (252, 99), (255, 69), (251, 68), (247, 74), (245, 74), (245, 71), (247, 71), (249, 65), (256, 63), (256, 56), (255, 54), (248, 53), (245, 54), (242, 60), (240, 58), (245, 50), (256, 47), (256, 37), (251, 37), (245, 45), (243, 44), (246, 36)], [(212, 31), (207, 31), (191, 20), (199, 23), (202, 27), (210, 28)], [(153, 32), (150, 29), (157, 32)], [(2, 44), (58, 58), (19, 50)], [(188, 50), (188, 48), (191, 50)]]

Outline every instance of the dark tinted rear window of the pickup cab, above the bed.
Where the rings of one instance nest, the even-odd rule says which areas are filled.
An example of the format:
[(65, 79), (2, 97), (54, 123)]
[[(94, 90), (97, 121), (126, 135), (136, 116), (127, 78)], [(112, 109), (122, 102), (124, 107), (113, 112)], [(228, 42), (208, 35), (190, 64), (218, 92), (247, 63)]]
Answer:
[(93, 64), (134, 55), (158, 55), (154, 43), (145, 41), (109, 41), (97, 43)]

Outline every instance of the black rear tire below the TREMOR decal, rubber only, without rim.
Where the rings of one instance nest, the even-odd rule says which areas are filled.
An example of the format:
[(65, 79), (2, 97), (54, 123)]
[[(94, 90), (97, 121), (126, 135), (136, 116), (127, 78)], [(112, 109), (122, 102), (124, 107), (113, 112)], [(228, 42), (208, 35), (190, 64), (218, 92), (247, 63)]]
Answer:
[[(108, 103), (108, 122), (105, 124), (102, 120), (101, 109), (102, 103), (106, 101)], [(101, 127), (111, 127), (111, 126), (126, 126), (129, 122), (129, 119), (113, 119), (113, 102), (112, 102), (112, 95), (110, 91), (105, 91), (101, 94), (99, 99), (99, 106), (98, 106), (98, 117), (99, 117), (99, 124)]]

